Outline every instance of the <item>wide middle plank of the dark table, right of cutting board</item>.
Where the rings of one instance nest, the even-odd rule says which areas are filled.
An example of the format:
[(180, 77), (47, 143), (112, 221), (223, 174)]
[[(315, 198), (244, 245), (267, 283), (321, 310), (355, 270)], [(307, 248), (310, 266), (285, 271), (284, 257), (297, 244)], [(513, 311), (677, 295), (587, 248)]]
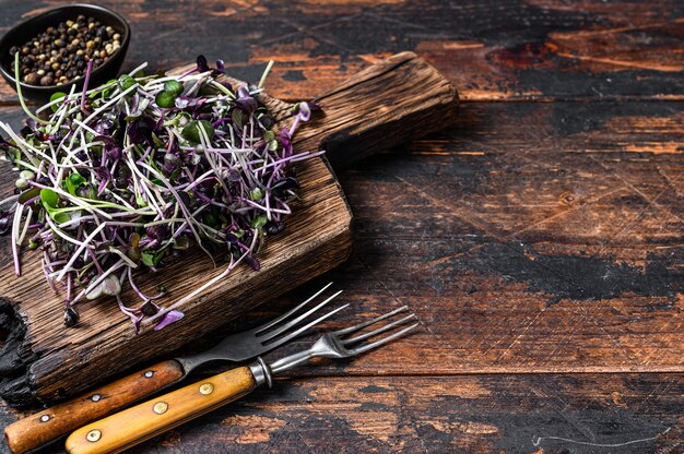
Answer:
[(355, 252), (318, 283), (347, 290), (340, 326), (409, 304), (425, 331), (296, 373), (681, 372), (682, 153), (642, 150), (681, 143), (683, 108), (464, 104), (351, 169)]

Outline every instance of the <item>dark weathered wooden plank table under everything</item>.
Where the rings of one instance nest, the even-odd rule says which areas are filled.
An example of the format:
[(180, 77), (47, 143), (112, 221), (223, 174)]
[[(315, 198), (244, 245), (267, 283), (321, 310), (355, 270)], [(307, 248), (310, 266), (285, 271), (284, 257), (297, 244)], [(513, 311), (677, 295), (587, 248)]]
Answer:
[[(2, 2), (0, 33), (56, 3)], [(340, 175), (353, 256), (247, 319), (334, 279), (333, 324), (409, 304), (423, 330), (133, 452), (684, 451), (681, 1), (102, 3), (131, 22), (127, 68), (205, 53), (256, 80), (274, 59), (269, 91), (300, 99), (413, 50), (463, 101)], [(0, 103), (17, 124), (7, 84)]]

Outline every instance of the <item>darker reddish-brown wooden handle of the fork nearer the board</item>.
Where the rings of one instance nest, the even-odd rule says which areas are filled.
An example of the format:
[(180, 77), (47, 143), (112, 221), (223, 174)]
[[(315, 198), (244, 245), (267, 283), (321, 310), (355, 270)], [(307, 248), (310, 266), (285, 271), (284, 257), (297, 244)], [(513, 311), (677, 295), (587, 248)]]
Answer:
[(91, 421), (180, 380), (185, 371), (176, 360), (163, 361), (91, 391), (80, 397), (20, 419), (4, 428), (10, 450), (21, 454), (47, 444)]

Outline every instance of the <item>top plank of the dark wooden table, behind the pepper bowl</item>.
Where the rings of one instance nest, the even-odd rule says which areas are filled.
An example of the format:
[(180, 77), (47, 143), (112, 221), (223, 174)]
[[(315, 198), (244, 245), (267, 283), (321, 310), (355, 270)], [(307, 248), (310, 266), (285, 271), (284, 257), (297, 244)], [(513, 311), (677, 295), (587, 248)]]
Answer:
[[(57, 2), (59, 3), (59, 2)], [(50, 8), (7, 4), (0, 32)], [(443, 71), (463, 99), (682, 99), (681, 2), (219, 0), (101, 4), (133, 31), (125, 68), (167, 69), (198, 53), (223, 58), (232, 74), (300, 99), (369, 62), (413, 50)], [(0, 100), (15, 99), (2, 82)]]

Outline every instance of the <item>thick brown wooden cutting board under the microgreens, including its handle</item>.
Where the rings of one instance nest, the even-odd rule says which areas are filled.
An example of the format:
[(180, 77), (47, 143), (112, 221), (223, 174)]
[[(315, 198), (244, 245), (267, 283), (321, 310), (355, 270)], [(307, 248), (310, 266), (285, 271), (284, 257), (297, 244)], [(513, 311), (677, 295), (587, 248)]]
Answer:
[[(290, 123), (292, 105), (263, 99), (281, 124)], [(0, 333), (5, 339), (0, 344), (0, 395), (19, 406), (75, 395), (342, 263), (351, 251), (352, 213), (331, 166), (339, 170), (443, 128), (455, 117), (458, 95), (433, 67), (403, 52), (369, 67), (316, 101), (323, 113), (297, 131), (295, 150), (322, 148), (327, 157), (297, 165), (302, 201), (286, 219), (286, 230), (269, 238), (259, 251), (261, 270), (239, 266), (182, 307), (186, 316), (162, 331), (148, 325), (135, 335), (113, 299), (79, 303), (80, 324), (66, 328), (63, 297), (49, 289), (38, 254), (22, 254), (23, 274), (16, 277), (9, 236), (1, 237)], [(0, 199), (11, 194), (14, 179), (10, 166), (2, 163)], [(141, 288), (162, 283), (169, 290), (164, 302), (172, 303), (223, 271), (202, 253), (188, 252), (141, 278)], [(134, 295), (126, 297), (138, 302)]]

